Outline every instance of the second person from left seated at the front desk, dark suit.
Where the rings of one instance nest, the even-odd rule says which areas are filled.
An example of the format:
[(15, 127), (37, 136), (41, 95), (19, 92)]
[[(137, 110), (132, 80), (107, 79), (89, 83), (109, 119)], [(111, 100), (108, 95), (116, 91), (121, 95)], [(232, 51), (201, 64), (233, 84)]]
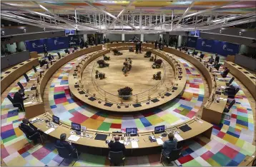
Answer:
[[(57, 140), (55, 145), (59, 146), (59, 147), (65, 147), (67, 148), (67, 150), (69, 151), (69, 153), (72, 153), (73, 158), (78, 158), (77, 157), (77, 148), (75, 148), (72, 143), (66, 141), (67, 138), (67, 134), (66, 133), (62, 133), (60, 136), (60, 140)], [(78, 156), (80, 155), (80, 153), (78, 153)]]

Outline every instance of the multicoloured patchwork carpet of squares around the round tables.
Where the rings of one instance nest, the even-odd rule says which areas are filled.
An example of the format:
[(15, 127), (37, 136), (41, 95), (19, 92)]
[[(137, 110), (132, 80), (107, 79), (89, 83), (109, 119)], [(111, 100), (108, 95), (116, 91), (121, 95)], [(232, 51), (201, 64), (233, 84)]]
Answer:
[[(142, 113), (138, 113), (137, 117), (133, 117), (134, 119), (140, 121), (140, 118), (146, 118), (149, 123), (151, 123), (151, 119), (148, 119), (147, 117), (157, 116), (155, 118), (152, 117), (152, 120), (158, 120), (159, 118), (162, 118), (162, 120), (164, 121), (160, 121), (162, 121), (163, 123), (168, 123), (168, 120), (171, 120), (169, 124), (172, 124), (177, 123), (177, 121), (182, 120), (182, 118), (190, 118), (189, 111), (194, 111), (195, 113), (198, 111), (198, 106), (200, 106), (200, 103), (202, 103), (199, 97), (203, 97), (203, 92), (200, 92), (199, 90), (195, 92), (197, 89), (200, 88), (195, 89), (193, 88), (193, 85), (191, 84), (190, 86), (189, 83), (192, 82), (194, 84), (199, 84), (202, 81), (202, 76), (197, 76), (198, 73), (196, 72), (196, 70), (193, 70), (193, 66), (185, 63), (185, 61), (182, 61), (182, 63), (184, 64), (184, 66), (186, 66), (186, 69), (189, 69), (189, 72), (187, 71), (187, 91), (184, 92), (187, 92), (187, 94), (189, 95), (193, 94), (192, 98), (189, 98), (191, 96), (184, 95), (183, 93), (180, 98), (176, 99), (176, 102), (173, 101), (159, 107), (161, 111), (156, 109), (155, 111), (145, 112), (151, 114), (153, 113), (152, 115), (143, 115)], [(67, 86), (67, 71), (70, 70), (71, 66), (72, 64), (67, 64), (66, 66), (64, 66), (64, 69), (61, 68), (58, 72), (56, 72), (56, 74), (54, 74), (55, 80), (52, 81), (52, 83), (57, 83), (56, 87), (64, 87), (64, 89), (62, 89), (63, 91), (59, 91), (61, 92), (59, 94), (64, 94), (65, 96), (63, 97), (66, 97), (66, 99), (63, 99), (63, 102), (61, 102), (60, 100), (59, 103), (56, 103), (54, 98), (52, 98), (52, 100), (50, 101), (51, 106), (55, 105), (55, 108), (62, 105), (62, 107), (59, 108), (59, 111), (54, 111), (54, 108), (52, 108), (54, 112), (59, 113), (60, 117), (62, 116), (61, 119), (63, 118), (64, 120), (71, 121), (69, 120), (69, 118), (72, 118), (76, 116), (76, 114), (79, 114), (79, 116), (87, 116), (87, 119), (91, 118), (93, 120), (93, 123), (97, 123), (98, 120), (100, 120), (97, 118), (104, 118), (102, 123), (107, 122), (106, 120), (109, 120), (109, 123), (111, 123), (111, 125), (112, 123), (114, 123), (112, 121), (117, 119), (119, 122), (117, 121), (116, 124), (120, 124), (121, 128), (116, 128), (114, 126), (114, 129), (122, 129), (123, 121), (125, 122), (125, 120), (133, 119), (129, 118), (128, 116), (110, 116), (109, 113), (108, 115), (103, 115), (102, 111), (94, 111), (94, 108), (90, 108), (86, 105), (84, 106), (84, 104), (82, 105), (82, 103), (79, 103), (79, 101), (74, 101), (70, 97)], [(33, 73), (34, 71), (31, 70), (27, 74), (31, 76), (33, 75)], [(230, 79), (230, 76), (228, 76), (227, 80)], [(26, 82), (23, 77), (20, 80), (22, 83)], [(233, 81), (233, 84), (235, 86), (240, 86), (240, 83), (236, 82), (236, 80)], [(52, 94), (49, 94), (49, 97), (54, 97), (55, 88), (51, 88)], [(16, 88), (11, 89), (9, 94), (12, 95), (18, 89), (19, 87), (16, 86)], [(196, 94), (195, 97), (194, 93)], [(250, 107), (250, 103), (248, 102), (243, 90), (240, 90), (237, 93), (237, 95), (235, 96), (235, 101), (235, 105), (232, 106), (230, 112), (227, 113), (230, 116), (230, 119), (223, 118), (220, 125), (214, 126), (211, 140), (203, 136), (199, 136), (193, 140), (186, 141), (184, 143), (182, 155), (178, 159), (178, 161), (176, 161), (178, 165), (237, 166), (239, 163), (242, 162), (245, 156), (252, 156), (252, 153), (254, 153), (255, 151), (255, 146), (252, 145), (253, 136), (255, 133), (253, 114), (255, 113), (252, 113), (252, 108)], [(74, 108), (71, 108), (72, 106), (67, 106), (69, 105), (69, 102), (77, 103), (75, 109), (76, 111), (72, 112), (72, 109)], [(176, 103), (178, 103), (178, 105)], [(191, 106), (191, 108), (186, 108), (184, 106)], [(179, 109), (175, 110), (176, 108)], [(65, 111), (61, 113), (61, 110)], [(64, 113), (66, 113), (67, 117), (65, 117)], [(76, 114), (73, 115), (73, 113)], [(159, 113), (162, 113), (165, 116), (159, 115)], [(72, 115), (71, 117), (70, 114)], [(95, 119), (95, 117), (92, 118), (92, 116), (98, 117)], [(179, 119), (176, 121), (175, 119), (172, 120), (171, 116), (180, 117), (177, 117)], [(167, 118), (164, 119), (165, 117)], [(62, 158), (57, 155), (57, 151), (54, 148), (53, 143), (45, 143), (44, 146), (39, 145), (34, 148), (32, 148), (32, 146), (29, 144), (26, 148), (24, 148), (24, 144), (28, 141), (18, 127), (21, 123), (22, 118), (24, 118), (24, 113), (18, 113), (17, 109), (13, 108), (10, 101), (5, 98), (1, 103), (1, 164), (5, 163), (7, 166), (58, 166), (59, 163), (62, 161)], [(135, 122), (137, 128), (143, 129), (145, 127), (150, 127), (144, 126), (143, 121), (140, 122), (141, 127), (137, 126)], [(162, 122), (159, 122), (159, 124), (161, 124)], [(152, 122), (152, 126), (153, 125), (155, 126), (157, 125), (157, 123)], [(107, 126), (107, 128), (105, 129), (105, 131), (108, 131), (107, 129), (111, 131), (112, 128), (108, 128)], [(159, 153), (156, 153), (149, 156), (127, 157), (125, 165), (161, 166), (161, 164), (159, 163), (159, 156)], [(69, 166), (72, 165), (72, 163), (73, 162), (71, 161), (64, 161), (61, 166)], [(109, 161), (106, 156), (95, 156), (88, 153), (82, 153), (79, 161), (77, 161), (74, 166), (109, 166)]]

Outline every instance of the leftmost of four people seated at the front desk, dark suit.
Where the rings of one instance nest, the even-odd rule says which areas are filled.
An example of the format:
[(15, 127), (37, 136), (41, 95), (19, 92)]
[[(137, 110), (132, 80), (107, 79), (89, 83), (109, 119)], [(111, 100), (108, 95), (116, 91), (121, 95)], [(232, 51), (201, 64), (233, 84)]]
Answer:
[(31, 137), (31, 140), (34, 143), (38, 142), (37, 140), (40, 138), (40, 133), (42, 132), (40, 131), (39, 128), (36, 128), (32, 123), (30, 123), (28, 118), (24, 118), (22, 120), (21, 128), (23, 128), (24, 133), (28, 134), (29, 136), (34, 135)]

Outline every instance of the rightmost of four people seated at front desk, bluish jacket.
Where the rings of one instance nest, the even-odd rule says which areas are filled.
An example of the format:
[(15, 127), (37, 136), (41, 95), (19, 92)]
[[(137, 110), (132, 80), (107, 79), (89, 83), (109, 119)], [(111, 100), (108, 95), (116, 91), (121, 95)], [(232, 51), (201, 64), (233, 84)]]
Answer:
[(172, 152), (172, 150), (177, 148), (177, 140), (174, 138), (173, 133), (168, 134), (168, 141), (164, 141), (164, 144), (162, 145), (162, 154), (164, 157), (168, 157), (169, 153)]

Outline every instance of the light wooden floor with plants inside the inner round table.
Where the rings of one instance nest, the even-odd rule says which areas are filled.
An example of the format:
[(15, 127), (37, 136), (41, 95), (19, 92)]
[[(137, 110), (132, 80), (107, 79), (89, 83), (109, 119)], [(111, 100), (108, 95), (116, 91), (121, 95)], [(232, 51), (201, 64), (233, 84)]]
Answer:
[[(84, 87), (89, 88), (90, 93), (95, 93), (97, 97), (104, 99), (104, 91), (106, 91), (108, 92), (106, 93), (108, 101), (119, 102), (120, 98), (118, 98), (117, 90), (129, 86), (133, 89), (133, 95), (139, 94), (138, 101), (145, 101), (148, 96), (151, 98), (159, 96), (159, 93), (166, 91), (166, 87), (170, 86), (173, 82), (174, 70), (164, 59), (162, 59), (164, 65), (162, 64), (160, 69), (152, 69), (153, 62), (149, 61), (149, 58), (144, 58), (144, 54), (135, 54), (129, 51), (121, 52), (123, 53), (122, 56), (114, 56), (112, 53), (106, 55), (110, 57), (110, 60), (106, 61), (109, 64), (109, 67), (99, 68), (95, 62), (102, 59), (102, 57), (100, 57), (99, 59), (92, 61), (84, 69), (82, 83), (84, 84)], [(124, 76), (122, 72), (125, 58), (132, 59), (132, 69), (127, 76)], [(94, 69), (93, 74), (92, 69)], [(95, 79), (96, 70), (104, 73), (106, 79)], [(157, 74), (158, 71), (161, 71), (162, 83), (160, 83), (161, 81), (159, 80), (152, 79), (153, 74)], [(92, 80), (95, 84), (93, 84)], [(149, 89), (151, 91), (148, 91)], [(137, 96), (132, 96), (128, 101), (132, 103), (135, 102), (136, 99)]]

